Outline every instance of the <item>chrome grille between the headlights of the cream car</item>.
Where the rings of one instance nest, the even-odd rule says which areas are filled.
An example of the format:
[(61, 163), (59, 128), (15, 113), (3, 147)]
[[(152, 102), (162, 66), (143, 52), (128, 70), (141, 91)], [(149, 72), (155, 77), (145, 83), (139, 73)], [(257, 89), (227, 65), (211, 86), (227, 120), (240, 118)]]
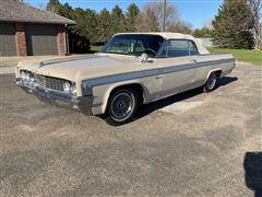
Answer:
[(41, 74), (35, 74), (36, 84), (57, 91), (63, 91), (63, 83), (69, 82), (68, 80), (52, 78)]

